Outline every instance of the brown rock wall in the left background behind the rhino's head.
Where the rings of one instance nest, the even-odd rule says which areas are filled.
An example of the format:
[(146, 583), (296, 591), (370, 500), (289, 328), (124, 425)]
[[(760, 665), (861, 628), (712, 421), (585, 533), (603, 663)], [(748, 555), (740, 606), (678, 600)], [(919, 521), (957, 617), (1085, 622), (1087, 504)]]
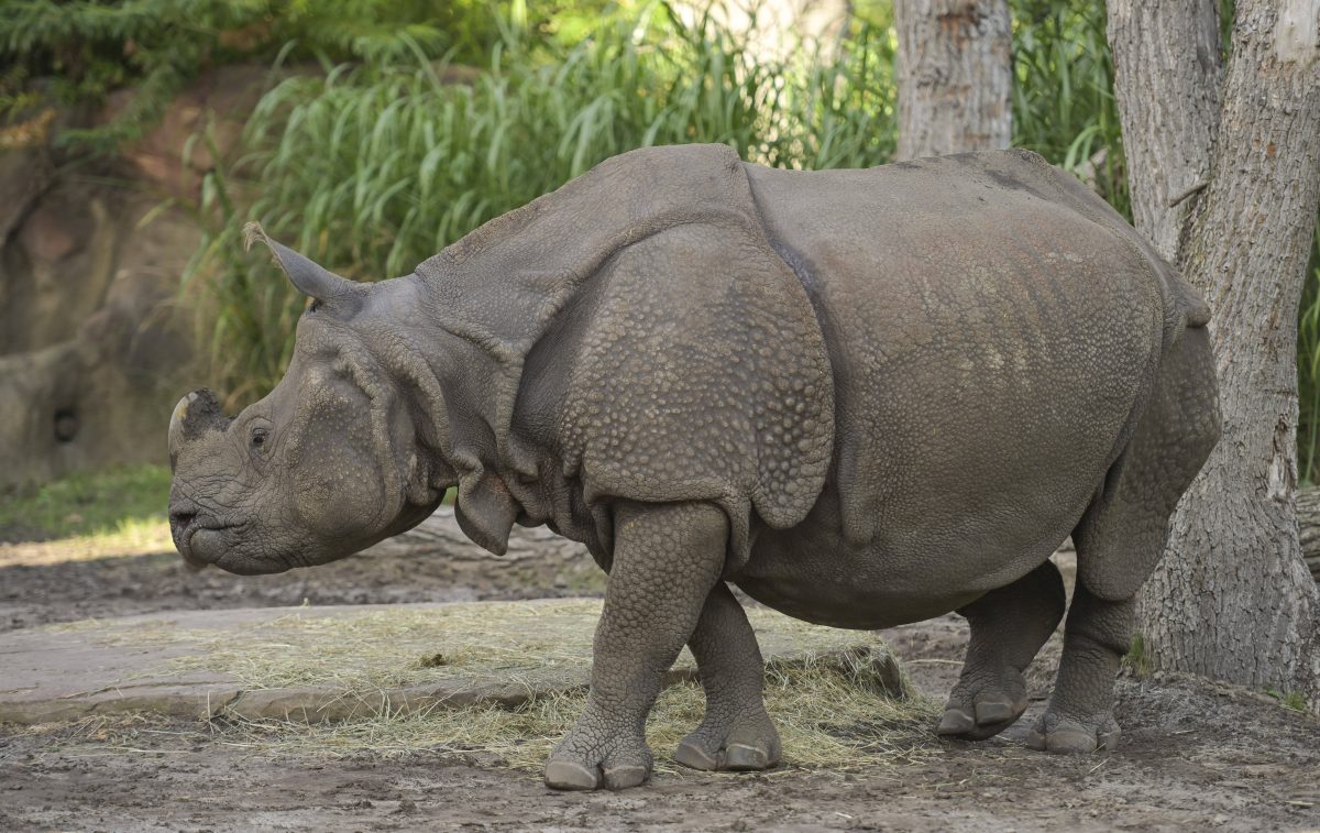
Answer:
[(203, 75), (116, 158), (70, 156), (54, 136), (108, 117), (123, 96), (100, 114), (51, 107), (0, 127), (0, 490), (168, 462), (170, 408), (201, 378), (180, 294), (199, 232), (164, 206), (195, 198), (211, 164), (183, 158), (189, 136), (219, 106), (214, 135), (232, 145), (260, 78)]

